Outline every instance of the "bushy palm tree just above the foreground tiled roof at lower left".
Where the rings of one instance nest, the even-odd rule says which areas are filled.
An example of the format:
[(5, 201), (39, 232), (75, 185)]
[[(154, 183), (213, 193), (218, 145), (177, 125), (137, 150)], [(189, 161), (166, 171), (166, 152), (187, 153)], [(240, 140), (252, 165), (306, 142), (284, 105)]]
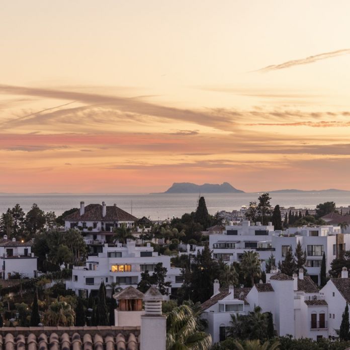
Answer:
[(74, 326), (75, 311), (65, 301), (54, 301), (45, 311), (43, 323), (46, 326)]

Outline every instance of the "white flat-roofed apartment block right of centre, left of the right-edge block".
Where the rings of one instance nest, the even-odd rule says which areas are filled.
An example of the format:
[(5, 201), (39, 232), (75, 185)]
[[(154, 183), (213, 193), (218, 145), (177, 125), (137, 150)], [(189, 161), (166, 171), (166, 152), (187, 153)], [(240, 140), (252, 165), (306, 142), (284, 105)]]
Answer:
[(222, 258), (228, 263), (241, 261), (246, 250), (257, 251), (262, 263), (261, 268), (265, 270), (265, 260), (274, 253), (272, 237), (280, 233), (282, 231), (275, 231), (271, 222), (266, 226), (259, 222), (252, 225), (250, 221), (242, 221), (241, 225), (230, 223), (222, 234), (209, 236), (209, 246), (215, 259)]

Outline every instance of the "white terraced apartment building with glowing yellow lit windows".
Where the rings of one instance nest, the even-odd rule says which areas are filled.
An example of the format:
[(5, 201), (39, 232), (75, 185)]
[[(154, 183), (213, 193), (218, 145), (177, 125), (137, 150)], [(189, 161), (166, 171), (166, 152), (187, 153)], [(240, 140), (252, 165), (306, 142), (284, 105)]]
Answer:
[(66, 282), (66, 289), (73, 290), (77, 295), (88, 296), (98, 292), (101, 282), (105, 283), (107, 293), (110, 293), (109, 285), (113, 282), (123, 289), (128, 286), (136, 288), (141, 273), (147, 270), (152, 275), (158, 262), (167, 269), (165, 282), (171, 283), (169, 295), (176, 295), (177, 288), (183, 283), (181, 269), (171, 268), (170, 256), (158, 255), (150, 243), (147, 246), (136, 246), (134, 241), (129, 241), (126, 245), (118, 243), (116, 246), (105, 243), (102, 252), (90, 255), (85, 266), (73, 267), (72, 280)]

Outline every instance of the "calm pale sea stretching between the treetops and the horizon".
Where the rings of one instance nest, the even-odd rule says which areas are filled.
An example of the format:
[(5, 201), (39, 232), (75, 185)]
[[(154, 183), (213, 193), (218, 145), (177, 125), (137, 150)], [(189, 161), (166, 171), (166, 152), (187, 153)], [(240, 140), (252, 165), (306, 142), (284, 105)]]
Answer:
[[(239, 210), (248, 206), (250, 201), (257, 201), (259, 193), (210, 193), (204, 196), (208, 211), (215, 214), (218, 211)], [(317, 204), (333, 201), (337, 207), (350, 205), (350, 192), (321, 191), (271, 193), (271, 205), (283, 207), (313, 209)], [(0, 213), (17, 203), (28, 212), (33, 203), (45, 212), (53, 211), (61, 215), (71, 208), (79, 208), (80, 201), (85, 206), (91, 203), (106, 202), (106, 205), (116, 204), (136, 217), (149, 217), (151, 220), (181, 217), (184, 213), (196, 210), (199, 194), (0, 194)]]

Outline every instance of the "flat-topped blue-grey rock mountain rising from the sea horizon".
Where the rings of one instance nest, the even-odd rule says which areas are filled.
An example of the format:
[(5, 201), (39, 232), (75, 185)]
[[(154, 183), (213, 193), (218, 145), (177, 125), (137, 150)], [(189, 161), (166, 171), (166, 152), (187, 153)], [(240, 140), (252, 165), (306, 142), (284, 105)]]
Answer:
[(163, 193), (244, 193), (237, 190), (229, 183), (196, 185), (191, 183), (173, 183)]

